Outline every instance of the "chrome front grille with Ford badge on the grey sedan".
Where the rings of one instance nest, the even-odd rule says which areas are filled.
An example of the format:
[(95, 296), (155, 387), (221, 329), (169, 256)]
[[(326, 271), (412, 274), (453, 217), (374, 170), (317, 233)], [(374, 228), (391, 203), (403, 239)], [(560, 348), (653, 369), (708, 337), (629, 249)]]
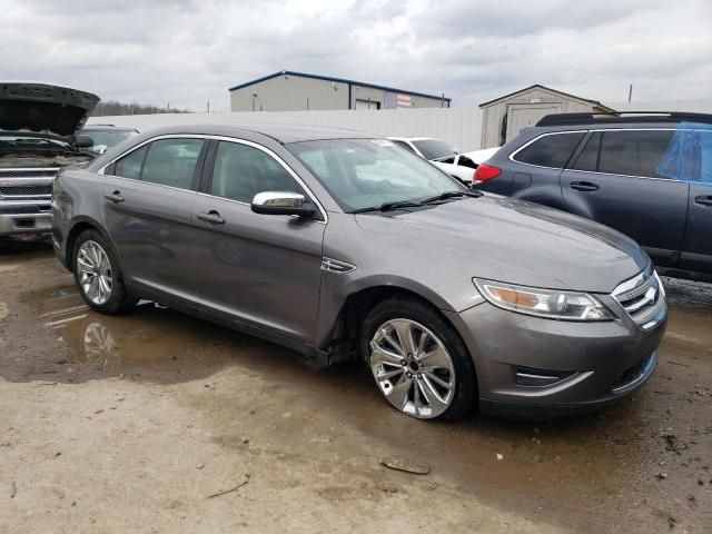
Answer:
[(613, 290), (613, 297), (644, 330), (665, 317), (665, 290), (652, 266), (622, 283)]

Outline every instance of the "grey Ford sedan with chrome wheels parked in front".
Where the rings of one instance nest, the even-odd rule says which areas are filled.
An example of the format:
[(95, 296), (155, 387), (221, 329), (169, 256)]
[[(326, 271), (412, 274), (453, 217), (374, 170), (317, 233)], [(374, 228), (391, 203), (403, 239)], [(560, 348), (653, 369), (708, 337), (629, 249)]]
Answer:
[(424, 419), (594, 409), (650, 378), (666, 323), (627, 237), (362, 132), (152, 130), (62, 171), (52, 207), (58, 257), (98, 312), (144, 298), (357, 358)]

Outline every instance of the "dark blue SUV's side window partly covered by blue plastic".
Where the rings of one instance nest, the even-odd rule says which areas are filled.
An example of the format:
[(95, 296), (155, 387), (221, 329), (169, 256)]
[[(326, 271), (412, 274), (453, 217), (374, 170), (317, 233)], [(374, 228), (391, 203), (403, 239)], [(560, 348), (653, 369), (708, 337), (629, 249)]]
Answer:
[(610, 175), (672, 178), (657, 172), (673, 130), (604, 131), (599, 171)]

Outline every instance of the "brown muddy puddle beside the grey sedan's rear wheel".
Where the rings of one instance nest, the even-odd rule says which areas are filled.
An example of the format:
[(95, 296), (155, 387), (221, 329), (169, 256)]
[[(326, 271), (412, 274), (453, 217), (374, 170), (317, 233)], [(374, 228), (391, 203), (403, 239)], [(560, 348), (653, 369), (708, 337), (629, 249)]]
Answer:
[[(17, 360), (28, 376), (53, 375), (48, 379), (72, 383), (112, 376), (176, 383), (209, 377), (239, 363), (300, 365), (288, 349), (154, 303), (141, 301), (125, 315), (98, 314), (69, 284), (28, 291), (18, 304), (37, 318), (37, 337), (56, 347), (49, 362), (29, 352)], [(48, 365), (55, 368), (50, 372)]]

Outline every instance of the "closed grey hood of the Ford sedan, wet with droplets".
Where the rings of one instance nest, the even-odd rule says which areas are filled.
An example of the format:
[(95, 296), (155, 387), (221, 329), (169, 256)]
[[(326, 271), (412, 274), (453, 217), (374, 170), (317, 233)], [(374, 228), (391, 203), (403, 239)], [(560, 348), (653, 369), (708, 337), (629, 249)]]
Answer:
[(463, 276), (523, 286), (609, 294), (650, 263), (635, 241), (611, 228), (496, 195), (356, 220), (405, 258), (412, 249), (427, 250), (432, 268), (448, 261)]

